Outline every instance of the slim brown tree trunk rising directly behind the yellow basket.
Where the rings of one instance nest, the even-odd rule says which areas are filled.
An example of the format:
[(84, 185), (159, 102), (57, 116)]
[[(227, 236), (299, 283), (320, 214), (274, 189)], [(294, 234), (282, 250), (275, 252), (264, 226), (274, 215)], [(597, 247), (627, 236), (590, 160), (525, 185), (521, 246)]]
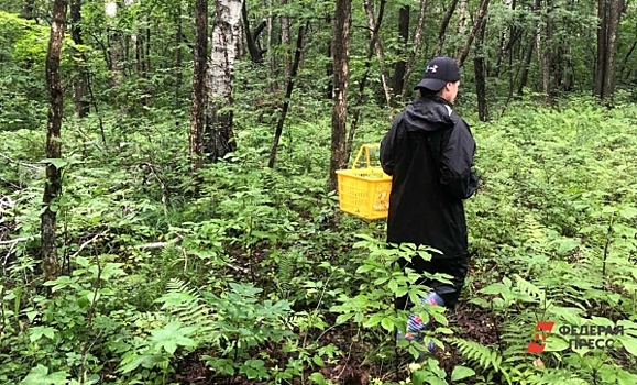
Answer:
[(333, 55), (333, 103), (332, 103), (332, 140), (330, 157), (329, 188), (337, 189), (337, 169), (347, 166), (345, 124), (348, 110), (348, 74), (350, 23), (352, 16), (351, 0), (337, 0), (332, 30)]

